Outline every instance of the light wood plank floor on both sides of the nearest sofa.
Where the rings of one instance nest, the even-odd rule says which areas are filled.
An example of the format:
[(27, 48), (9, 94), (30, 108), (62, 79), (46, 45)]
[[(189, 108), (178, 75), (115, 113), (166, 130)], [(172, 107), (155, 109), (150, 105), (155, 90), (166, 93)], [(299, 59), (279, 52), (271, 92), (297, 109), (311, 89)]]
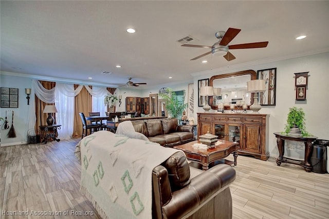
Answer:
[[(0, 218), (99, 218), (79, 192), (78, 141), (1, 147)], [(234, 169), (233, 218), (329, 218), (329, 174), (242, 155)], [(28, 216), (4, 215), (27, 210)], [(32, 210), (68, 215), (33, 216)], [(72, 215), (71, 210), (94, 215)]]

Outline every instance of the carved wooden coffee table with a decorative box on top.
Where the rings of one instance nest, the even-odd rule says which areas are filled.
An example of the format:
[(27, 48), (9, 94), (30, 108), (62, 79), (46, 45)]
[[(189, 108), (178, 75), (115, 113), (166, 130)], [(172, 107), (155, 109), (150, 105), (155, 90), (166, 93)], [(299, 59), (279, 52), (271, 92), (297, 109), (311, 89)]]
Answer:
[(200, 143), (199, 141), (189, 142), (184, 145), (177, 145), (174, 146), (174, 148), (184, 151), (188, 160), (202, 164), (203, 170), (208, 170), (209, 164), (211, 162), (223, 159), (231, 153), (233, 153), (234, 162), (225, 160), (225, 163), (228, 165), (234, 164), (234, 166), (236, 166), (237, 146), (239, 143), (224, 140), (218, 141), (223, 142), (223, 144), (208, 149), (199, 149), (193, 147), (195, 143)]

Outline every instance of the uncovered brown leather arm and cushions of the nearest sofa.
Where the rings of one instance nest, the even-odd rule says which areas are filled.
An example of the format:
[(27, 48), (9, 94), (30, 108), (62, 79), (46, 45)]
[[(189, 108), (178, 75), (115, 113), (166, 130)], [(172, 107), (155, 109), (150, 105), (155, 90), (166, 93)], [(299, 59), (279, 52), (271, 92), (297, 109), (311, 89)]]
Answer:
[(174, 153), (152, 173), (152, 218), (232, 218), (229, 185), (231, 166), (219, 164), (207, 171), (190, 167), (184, 152)]

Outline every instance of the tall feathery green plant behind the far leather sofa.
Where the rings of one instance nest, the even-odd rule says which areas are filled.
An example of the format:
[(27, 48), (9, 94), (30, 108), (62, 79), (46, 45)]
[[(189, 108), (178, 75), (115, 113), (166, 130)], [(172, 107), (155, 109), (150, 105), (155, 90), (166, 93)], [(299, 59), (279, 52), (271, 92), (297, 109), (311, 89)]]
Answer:
[(171, 88), (166, 88), (165, 93), (159, 93), (162, 101), (166, 104), (169, 117), (175, 117), (180, 120), (181, 115), (188, 107), (188, 103), (185, 102), (185, 92), (182, 96), (177, 96), (175, 91)]

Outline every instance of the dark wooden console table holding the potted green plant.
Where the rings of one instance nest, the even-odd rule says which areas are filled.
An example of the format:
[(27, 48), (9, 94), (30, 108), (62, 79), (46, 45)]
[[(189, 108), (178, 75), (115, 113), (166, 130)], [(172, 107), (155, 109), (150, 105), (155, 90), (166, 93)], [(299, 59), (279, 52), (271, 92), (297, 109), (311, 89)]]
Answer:
[[(297, 164), (304, 167), (306, 172), (310, 172), (312, 170), (312, 166), (309, 163), (310, 153), (313, 149), (312, 142), (314, 142), (318, 137), (314, 135), (310, 136), (301, 136), (301, 135), (289, 135), (282, 134), (280, 132), (273, 133), (277, 137), (277, 145), (279, 150), (279, 157), (277, 158), (277, 165), (280, 166), (281, 163), (290, 163)], [(296, 160), (289, 157), (284, 157), (284, 141), (295, 141), (295, 142), (304, 142), (305, 145), (305, 155), (304, 161)]]

